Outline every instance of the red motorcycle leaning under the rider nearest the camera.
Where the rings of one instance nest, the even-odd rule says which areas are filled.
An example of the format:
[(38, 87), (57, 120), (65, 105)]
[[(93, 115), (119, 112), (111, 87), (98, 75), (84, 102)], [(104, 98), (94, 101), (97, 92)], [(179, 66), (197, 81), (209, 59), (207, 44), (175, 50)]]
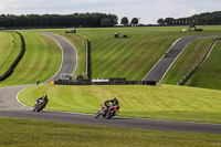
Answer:
[(103, 104), (102, 108), (94, 115), (94, 118), (97, 118), (102, 115), (103, 117), (108, 119), (113, 116), (116, 116), (117, 113), (119, 113), (119, 106), (108, 106), (108, 108), (106, 109), (105, 104)]

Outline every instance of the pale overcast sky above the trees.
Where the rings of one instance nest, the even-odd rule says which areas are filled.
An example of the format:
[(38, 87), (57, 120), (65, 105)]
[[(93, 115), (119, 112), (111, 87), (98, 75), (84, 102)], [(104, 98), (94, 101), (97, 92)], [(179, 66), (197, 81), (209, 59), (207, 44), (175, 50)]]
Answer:
[(140, 23), (157, 23), (160, 18), (183, 18), (221, 11), (221, 0), (0, 0), (0, 14), (113, 13), (140, 18)]

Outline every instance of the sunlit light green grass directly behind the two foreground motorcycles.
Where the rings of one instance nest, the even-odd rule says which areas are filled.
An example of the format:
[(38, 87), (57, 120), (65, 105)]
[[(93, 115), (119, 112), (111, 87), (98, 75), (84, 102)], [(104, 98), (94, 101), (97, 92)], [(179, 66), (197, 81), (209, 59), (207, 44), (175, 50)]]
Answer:
[(123, 117), (221, 124), (221, 92), (185, 86), (55, 86), (30, 87), (19, 99), (33, 106), (48, 94), (46, 109), (94, 114), (106, 99), (117, 97)]

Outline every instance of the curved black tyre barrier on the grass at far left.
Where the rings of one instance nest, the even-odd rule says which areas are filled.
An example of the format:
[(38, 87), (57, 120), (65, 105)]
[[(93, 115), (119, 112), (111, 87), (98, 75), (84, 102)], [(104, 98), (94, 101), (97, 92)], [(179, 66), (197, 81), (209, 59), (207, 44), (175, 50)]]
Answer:
[(19, 64), (19, 62), (21, 61), (21, 59), (23, 57), (24, 52), (25, 52), (25, 42), (24, 42), (23, 35), (19, 32), (14, 32), (14, 33), (18, 33), (21, 38), (21, 44), (22, 44), (21, 52), (20, 52), (19, 56), (15, 59), (15, 61), (11, 64), (9, 70), (3, 75), (0, 76), (0, 82), (8, 78), (13, 73), (13, 70), (17, 67), (17, 65)]

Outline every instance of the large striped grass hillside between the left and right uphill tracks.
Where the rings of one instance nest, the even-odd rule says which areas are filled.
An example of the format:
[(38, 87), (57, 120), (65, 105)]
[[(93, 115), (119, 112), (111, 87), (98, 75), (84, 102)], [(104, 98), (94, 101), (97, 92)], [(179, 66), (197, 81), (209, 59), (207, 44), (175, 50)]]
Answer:
[[(61, 34), (76, 46), (80, 67), (76, 74), (85, 72), (85, 40), (90, 39), (93, 77), (141, 80), (178, 38), (221, 34), (220, 27), (199, 27), (204, 30), (202, 32), (181, 32), (182, 28), (188, 27), (77, 29), (76, 34), (65, 34), (64, 29), (44, 31)], [(114, 39), (115, 33), (128, 38)]]

